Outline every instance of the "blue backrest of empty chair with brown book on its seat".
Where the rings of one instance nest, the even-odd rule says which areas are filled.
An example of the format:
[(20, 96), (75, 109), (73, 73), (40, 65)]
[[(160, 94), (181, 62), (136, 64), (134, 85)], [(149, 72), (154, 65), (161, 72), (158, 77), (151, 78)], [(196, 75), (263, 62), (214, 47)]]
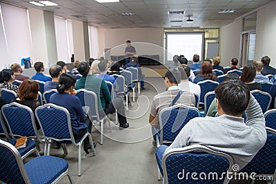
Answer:
[(2, 113), (8, 124), (12, 138), (14, 136), (37, 136), (37, 139), (39, 139), (37, 125), (34, 121), (34, 113), (29, 107), (12, 102), (3, 105)]

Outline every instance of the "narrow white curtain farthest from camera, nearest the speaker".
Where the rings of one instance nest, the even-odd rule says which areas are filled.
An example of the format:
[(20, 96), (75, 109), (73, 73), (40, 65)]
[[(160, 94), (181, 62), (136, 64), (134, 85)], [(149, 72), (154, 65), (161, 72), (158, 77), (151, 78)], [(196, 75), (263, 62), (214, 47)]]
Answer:
[(98, 28), (89, 27), (89, 44), (90, 44), (90, 58), (97, 59), (99, 57), (99, 41), (98, 41)]

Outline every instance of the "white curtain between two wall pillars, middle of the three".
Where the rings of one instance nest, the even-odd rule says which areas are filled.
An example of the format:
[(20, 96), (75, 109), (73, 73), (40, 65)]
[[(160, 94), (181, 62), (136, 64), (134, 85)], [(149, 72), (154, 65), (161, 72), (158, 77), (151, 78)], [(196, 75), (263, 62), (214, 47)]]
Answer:
[(70, 58), (74, 54), (72, 21), (55, 17), (55, 33), (57, 42), (57, 59), (70, 63)]

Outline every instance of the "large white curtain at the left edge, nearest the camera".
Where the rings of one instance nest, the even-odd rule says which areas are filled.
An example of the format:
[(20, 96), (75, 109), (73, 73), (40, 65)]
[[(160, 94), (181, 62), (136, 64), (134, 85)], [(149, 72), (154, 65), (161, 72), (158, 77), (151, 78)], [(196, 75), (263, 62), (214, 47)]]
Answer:
[(0, 3), (0, 68), (12, 63), (21, 64), (21, 59), (32, 59), (32, 43), (28, 11), (25, 8)]

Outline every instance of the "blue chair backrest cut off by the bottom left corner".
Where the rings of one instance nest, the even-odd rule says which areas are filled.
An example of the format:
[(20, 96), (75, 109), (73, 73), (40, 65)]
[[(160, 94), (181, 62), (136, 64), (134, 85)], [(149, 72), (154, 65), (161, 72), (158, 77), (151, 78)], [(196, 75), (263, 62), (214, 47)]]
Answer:
[(21, 155), (13, 145), (0, 140), (0, 180), (5, 183), (30, 183)]

